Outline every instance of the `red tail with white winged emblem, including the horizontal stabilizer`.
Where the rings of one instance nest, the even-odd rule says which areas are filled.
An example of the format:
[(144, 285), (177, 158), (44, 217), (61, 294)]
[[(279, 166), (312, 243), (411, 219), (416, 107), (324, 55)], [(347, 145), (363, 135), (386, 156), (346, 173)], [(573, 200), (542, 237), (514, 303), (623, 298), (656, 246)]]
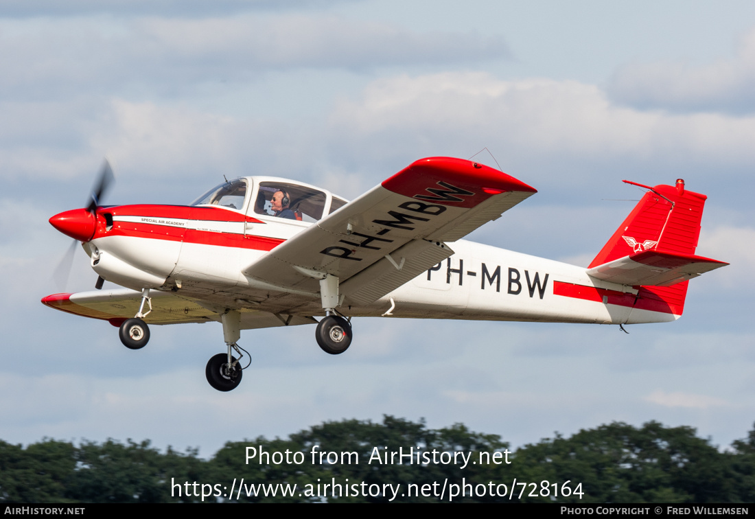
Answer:
[(590, 276), (640, 286), (635, 308), (680, 316), (690, 278), (726, 263), (695, 256), (707, 196), (676, 186), (643, 186), (643, 199), (587, 267)]

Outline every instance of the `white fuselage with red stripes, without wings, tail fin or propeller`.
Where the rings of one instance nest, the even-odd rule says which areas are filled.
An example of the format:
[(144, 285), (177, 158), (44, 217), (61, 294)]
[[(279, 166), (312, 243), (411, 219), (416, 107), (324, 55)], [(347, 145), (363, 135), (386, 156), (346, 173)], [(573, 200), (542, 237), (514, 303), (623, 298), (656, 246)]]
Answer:
[[(120, 205), (97, 209), (84, 243), (94, 270), (132, 289), (159, 289), (217, 307), (319, 316), (319, 294), (251, 279), (243, 270), (311, 221), (279, 218), (251, 202), (282, 179), (245, 178), (236, 204)], [(291, 181), (285, 181), (290, 184)], [(297, 184), (302, 189), (316, 189)], [(293, 189), (289, 187), (288, 189)], [(322, 217), (345, 201), (319, 190)], [(334, 202), (335, 201), (335, 202)], [(236, 207), (238, 205), (238, 208)], [(351, 316), (557, 323), (652, 323), (675, 320), (681, 307), (638, 298), (640, 287), (596, 280), (584, 267), (458, 240), (455, 254), (374, 303), (341, 303)]]

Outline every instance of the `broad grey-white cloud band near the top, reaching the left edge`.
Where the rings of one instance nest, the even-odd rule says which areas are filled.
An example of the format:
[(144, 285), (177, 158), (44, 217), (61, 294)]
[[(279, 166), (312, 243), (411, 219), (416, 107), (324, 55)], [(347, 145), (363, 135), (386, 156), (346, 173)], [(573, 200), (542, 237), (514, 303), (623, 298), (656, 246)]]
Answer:
[(173, 96), (292, 67), (466, 65), (510, 55), (499, 37), (414, 32), (321, 14), (0, 18), (0, 45), (0, 93), (24, 99), (68, 99), (82, 91)]

